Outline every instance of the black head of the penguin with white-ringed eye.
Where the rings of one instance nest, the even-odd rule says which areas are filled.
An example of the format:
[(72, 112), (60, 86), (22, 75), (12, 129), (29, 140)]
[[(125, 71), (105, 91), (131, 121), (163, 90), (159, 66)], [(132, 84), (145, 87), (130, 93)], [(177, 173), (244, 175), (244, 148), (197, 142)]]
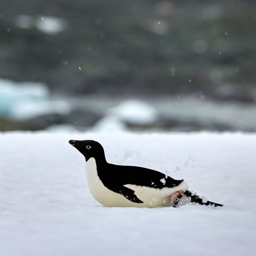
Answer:
[(86, 162), (91, 157), (95, 160), (106, 161), (104, 149), (99, 142), (94, 140), (70, 140), (68, 142), (84, 155)]

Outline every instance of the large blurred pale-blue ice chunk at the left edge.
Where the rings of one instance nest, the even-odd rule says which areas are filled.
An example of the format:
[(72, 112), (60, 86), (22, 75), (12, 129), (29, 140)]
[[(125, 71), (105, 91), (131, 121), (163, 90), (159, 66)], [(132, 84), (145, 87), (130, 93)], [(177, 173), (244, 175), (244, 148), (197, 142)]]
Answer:
[(25, 120), (45, 114), (67, 114), (64, 100), (51, 100), (49, 89), (39, 82), (15, 83), (0, 79), (0, 116)]

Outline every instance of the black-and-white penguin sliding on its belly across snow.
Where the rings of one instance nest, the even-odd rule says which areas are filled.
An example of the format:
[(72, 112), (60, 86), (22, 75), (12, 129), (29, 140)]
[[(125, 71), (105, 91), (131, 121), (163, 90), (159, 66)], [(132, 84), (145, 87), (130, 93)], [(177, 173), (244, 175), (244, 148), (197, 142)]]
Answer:
[(106, 161), (105, 152), (94, 140), (70, 140), (83, 154), (91, 194), (107, 207), (176, 207), (190, 202), (223, 206), (203, 200), (188, 190), (184, 180), (137, 166), (120, 166)]

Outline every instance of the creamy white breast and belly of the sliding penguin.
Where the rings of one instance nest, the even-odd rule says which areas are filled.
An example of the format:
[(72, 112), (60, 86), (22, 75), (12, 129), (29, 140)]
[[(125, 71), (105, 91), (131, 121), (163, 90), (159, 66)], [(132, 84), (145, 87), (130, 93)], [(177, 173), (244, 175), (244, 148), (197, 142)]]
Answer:
[(96, 161), (94, 158), (90, 158), (86, 162), (86, 177), (89, 190), (94, 199), (107, 207), (169, 207), (173, 206), (173, 202), (171, 200), (171, 195), (173, 193), (188, 189), (188, 186), (184, 181), (173, 188), (166, 187), (162, 189), (138, 186), (134, 184), (124, 185), (127, 188), (134, 190), (136, 196), (143, 201), (143, 203), (135, 203), (125, 198), (125, 196), (111, 191), (104, 186), (98, 177)]

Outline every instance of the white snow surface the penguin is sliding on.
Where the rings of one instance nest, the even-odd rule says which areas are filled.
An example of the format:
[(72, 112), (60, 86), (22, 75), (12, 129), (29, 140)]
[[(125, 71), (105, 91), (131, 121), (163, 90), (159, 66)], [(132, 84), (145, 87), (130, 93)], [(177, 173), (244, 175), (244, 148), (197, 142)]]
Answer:
[[(90, 194), (70, 139), (102, 143), (110, 163), (184, 178), (214, 208), (107, 208)], [(256, 135), (0, 133), (4, 256), (256, 255)]]

